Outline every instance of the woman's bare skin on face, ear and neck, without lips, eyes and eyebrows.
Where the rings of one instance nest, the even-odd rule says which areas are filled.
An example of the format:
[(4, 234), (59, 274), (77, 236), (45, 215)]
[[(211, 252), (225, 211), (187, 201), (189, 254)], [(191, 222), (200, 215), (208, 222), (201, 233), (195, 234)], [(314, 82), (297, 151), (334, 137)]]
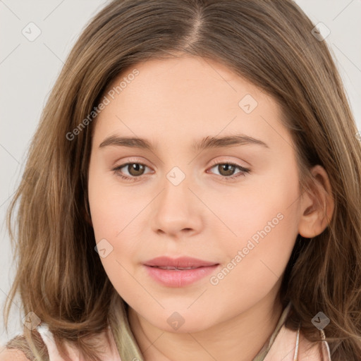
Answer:
[[(146, 361), (252, 360), (281, 316), (278, 292), (296, 236), (313, 237), (327, 226), (317, 197), (331, 218), (329, 178), (315, 166), (320, 192), (300, 193), (279, 106), (225, 66), (181, 56), (133, 68), (139, 75), (94, 123), (88, 191), (97, 243), (105, 238), (113, 247), (101, 258), (104, 269), (130, 305), (130, 326)], [(238, 106), (246, 94), (258, 103), (250, 114)], [(268, 148), (192, 149), (195, 140), (234, 133)], [(157, 148), (99, 147), (111, 135), (144, 137)], [(212, 161), (231, 161), (250, 173), (226, 181), (226, 171)], [(128, 166), (119, 171), (135, 181), (112, 171), (127, 162), (146, 166), (143, 173)], [(177, 186), (166, 178), (174, 166), (185, 174)], [(219, 263), (212, 275), (219, 274), (280, 213), (283, 219), (217, 285), (206, 276), (168, 288), (142, 266), (160, 255), (189, 256)], [(184, 319), (178, 330), (167, 322), (173, 312)]]

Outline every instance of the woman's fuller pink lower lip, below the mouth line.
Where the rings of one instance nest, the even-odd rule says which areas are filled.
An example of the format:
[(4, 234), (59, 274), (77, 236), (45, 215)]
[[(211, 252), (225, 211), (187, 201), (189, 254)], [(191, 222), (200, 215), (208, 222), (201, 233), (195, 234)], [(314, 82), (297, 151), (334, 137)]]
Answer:
[(167, 287), (183, 287), (194, 283), (203, 277), (212, 274), (212, 272), (219, 266), (198, 267), (195, 269), (161, 269), (157, 267), (145, 266), (149, 276)]

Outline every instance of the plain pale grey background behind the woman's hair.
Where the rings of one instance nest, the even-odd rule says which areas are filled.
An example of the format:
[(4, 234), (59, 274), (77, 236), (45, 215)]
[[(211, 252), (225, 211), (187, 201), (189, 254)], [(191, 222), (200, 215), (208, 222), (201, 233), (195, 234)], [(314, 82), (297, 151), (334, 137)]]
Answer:
[[(14, 275), (5, 214), (25, 165), (49, 91), (82, 28), (108, 1), (0, 0), (0, 309)], [(361, 130), (361, 0), (298, 0), (314, 24), (331, 30), (326, 42), (345, 84), (357, 127)], [(41, 34), (30, 42), (22, 33), (33, 22)], [(32, 32), (34, 34), (34, 32)], [(0, 344), (20, 331), (15, 303), (9, 334), (0, 320)]]

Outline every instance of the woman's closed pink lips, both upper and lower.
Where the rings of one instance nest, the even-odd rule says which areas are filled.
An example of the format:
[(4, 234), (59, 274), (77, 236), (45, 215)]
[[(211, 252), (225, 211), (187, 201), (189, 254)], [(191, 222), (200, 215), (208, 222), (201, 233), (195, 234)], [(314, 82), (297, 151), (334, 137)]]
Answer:
[(211, 274), (219, 264), (192, 257), (157, 257), (145, 262), (149, 276), (168, 287), (183, 287)]

